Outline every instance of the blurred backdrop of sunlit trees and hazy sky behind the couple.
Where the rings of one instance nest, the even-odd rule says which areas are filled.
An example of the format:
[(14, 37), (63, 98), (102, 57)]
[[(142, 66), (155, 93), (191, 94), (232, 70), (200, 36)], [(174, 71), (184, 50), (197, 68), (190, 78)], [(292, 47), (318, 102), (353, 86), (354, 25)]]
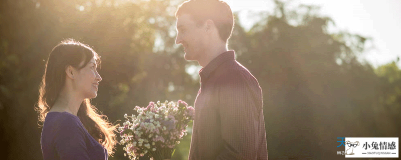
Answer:
[[(103, 80), (92, 103), (111, 122), (122, 123), (124, 113), (149, 101), (182, 99), (193, 105), (200, 66), (184, 60), (182, 46), (174, 43), (174, 13), (182, 1), (1, 0), (1, 154), (43, 159), (34, 107), (45, 60), (64, 38), (87, 43), (101, 56)], [(337, 137), (401, 135), (400, 28), (392, 25), (400, 21), (385, 14), (391, 7), (362, 14), (357, 9), (366, 10), (362, 4), (342, 0), (344, 6), (325, 5), (322, 13), (322, 2), (310, 0), (255, 0), (257, 7), (227, 2), (236, 16), (229, 49), (263, 90), (269, 159), (341, 159)], [(380, 2), (377, 7), (399, 5)], [(368, 27), (340, 19), (337, 25), (338, 14), (330, 9), (343, 19), (379, 21)], [(388, 21), (385, 31), (392, 41), (368, 34)], [(187, 159), (189, 143), (190, 134), (172, 159)], [(109, 159), (128, 159), (123, 153), (117, 145)]]

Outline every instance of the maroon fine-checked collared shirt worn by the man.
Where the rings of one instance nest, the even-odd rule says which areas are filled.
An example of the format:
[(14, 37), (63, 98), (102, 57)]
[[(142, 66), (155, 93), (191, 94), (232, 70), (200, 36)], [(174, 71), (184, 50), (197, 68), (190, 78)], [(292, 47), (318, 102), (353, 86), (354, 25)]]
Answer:
[(268, 159), (262, 89), (234, 50), (199, 75), (188, 159)]

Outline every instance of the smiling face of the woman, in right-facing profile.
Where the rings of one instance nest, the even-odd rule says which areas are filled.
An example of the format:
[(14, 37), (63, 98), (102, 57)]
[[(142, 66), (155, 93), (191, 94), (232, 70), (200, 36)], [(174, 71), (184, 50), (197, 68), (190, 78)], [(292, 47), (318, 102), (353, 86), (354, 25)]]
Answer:
[(75, 80), (79, 93), (84, 98), (94, 98), (97, 96), (99, 81), (102, 80), (97, 72), (96, 57), (93, 57), (83, 68), (78, 70), (78, 75)]

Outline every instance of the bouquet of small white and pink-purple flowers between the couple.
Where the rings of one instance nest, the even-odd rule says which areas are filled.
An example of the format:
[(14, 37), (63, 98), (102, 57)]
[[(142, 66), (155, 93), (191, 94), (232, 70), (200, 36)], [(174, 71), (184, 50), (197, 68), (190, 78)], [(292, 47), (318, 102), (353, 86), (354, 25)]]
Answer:
[(175, 144), (186, 135), (187, 123), (193, 120), (194, 108), (185, 101), (149, 102), (147, 107), (135, 106), (137, 115), (124, 115), (126, 121), (118, 128), (120, 144), (130, 159), (148, 156), (153, 160), (170, 159)]

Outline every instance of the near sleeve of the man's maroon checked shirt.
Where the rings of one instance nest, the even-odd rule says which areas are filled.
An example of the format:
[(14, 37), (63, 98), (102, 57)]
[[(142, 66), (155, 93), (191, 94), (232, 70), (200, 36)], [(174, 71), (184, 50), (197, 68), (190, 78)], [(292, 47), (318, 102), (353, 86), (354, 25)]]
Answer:
[[(231, 72), (219, 88), (219, 112), (224, 148), (217, 159), (256, 159), (259, 144), (259, 85), (241, 73)], [(255, 95), (256, 93), (256, 95)], [(255, 99), (256, 97), (256, 99)]]

